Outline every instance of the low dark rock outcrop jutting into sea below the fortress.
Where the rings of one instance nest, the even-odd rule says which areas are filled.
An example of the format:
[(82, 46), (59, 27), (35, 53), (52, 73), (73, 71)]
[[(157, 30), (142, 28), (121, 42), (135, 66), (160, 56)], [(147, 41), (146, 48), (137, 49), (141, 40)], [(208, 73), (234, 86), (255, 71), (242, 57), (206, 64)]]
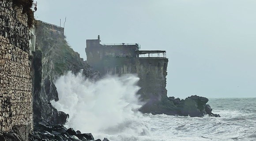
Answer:
[(191, 117), (202, 117), (210, 115), (220, 117), (213, 114), (210, 105), (206, 104), (208, 99), (201, 96), (190, 96), (185, 100), (175, 99), (174, 97), (162, 98), (162, 100), (149, 100), (140, 111), (143, 113), (166, 114), (166, 115), (182, 115)]

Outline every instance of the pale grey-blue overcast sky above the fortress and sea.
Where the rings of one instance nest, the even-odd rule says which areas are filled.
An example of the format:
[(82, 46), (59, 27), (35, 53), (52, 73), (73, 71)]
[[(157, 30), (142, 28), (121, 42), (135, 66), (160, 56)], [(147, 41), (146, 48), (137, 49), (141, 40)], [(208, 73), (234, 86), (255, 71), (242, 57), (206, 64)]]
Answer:
[[(35, 18), (86, 40), (166, 50), (168, 96), (256, 97), (256, 0), (34, 0)], [(60, 24), (61, 19), (61, 24)]]

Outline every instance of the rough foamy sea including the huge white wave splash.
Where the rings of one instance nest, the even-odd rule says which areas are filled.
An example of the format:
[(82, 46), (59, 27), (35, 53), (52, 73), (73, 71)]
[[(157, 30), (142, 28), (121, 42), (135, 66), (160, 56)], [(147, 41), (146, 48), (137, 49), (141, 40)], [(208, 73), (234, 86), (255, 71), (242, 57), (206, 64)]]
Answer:
[(136, 75), (98, 82), (71, 72), (56, 81), (67, 127), (110, 141), (256, 141), (256, 98), (216, 98), (207, 104), (220, 118), (141, 114)]

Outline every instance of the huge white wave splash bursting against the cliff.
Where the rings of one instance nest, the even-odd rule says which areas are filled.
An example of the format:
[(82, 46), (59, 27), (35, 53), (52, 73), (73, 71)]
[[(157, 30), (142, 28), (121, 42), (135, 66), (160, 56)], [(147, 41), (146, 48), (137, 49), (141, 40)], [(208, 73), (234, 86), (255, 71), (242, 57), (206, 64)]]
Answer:
[[(98, 137), (108, 134), (123, 136), (148, 135), (146, 117), (136, 95), (139, 78), (133, 74), (106, 76), (92, 82), (68, 72), (56, 80), (59, 101), (51, 101), (58, 110), (69, 114), (67, 127)], [(122, 137), (123, 137), (122, 136)]]

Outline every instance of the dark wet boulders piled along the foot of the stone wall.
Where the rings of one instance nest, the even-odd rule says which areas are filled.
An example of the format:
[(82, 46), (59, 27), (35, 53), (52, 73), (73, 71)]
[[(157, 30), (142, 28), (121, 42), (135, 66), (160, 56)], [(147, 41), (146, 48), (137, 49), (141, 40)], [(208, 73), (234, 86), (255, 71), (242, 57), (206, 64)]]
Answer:
[(103, 140), (94, 140), (91, 133), (82, 134), (79, 130), (65, 128), (61, 124), (49, 125), (46, 122), (38, 122), (34, 125), (34, 131), (25, 137), (14, 128), (9, 132), (0, 132), (0, 141), (109, 141), (108, 138)]

